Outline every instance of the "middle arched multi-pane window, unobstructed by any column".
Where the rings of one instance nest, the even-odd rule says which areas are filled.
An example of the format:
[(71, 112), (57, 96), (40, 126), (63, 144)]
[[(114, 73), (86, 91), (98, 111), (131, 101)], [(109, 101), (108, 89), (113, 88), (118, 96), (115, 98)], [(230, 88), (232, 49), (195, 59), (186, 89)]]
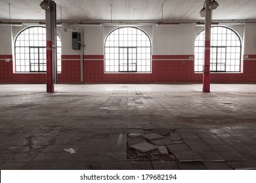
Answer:
[(105, 42), (105, 72), (151, 72), (151, 42), (136, 27), (120, 27)]

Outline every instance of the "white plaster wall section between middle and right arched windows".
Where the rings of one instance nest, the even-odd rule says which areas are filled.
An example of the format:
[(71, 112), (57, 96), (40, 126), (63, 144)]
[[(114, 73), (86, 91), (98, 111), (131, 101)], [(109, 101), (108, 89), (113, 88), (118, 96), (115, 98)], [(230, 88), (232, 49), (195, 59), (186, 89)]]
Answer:
[(153, 26), (153, 55), (194, 55), (194, 24)]

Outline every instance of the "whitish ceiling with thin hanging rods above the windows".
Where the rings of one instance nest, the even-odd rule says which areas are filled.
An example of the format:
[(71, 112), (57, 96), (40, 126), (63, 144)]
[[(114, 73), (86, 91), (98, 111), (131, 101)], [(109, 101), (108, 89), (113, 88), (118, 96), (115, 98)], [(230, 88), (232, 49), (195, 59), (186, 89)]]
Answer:
[[(0, 0), (0, 20), (45, 20), (45, 11), (39, 7), (43, 0)], [(55, 0), (59, 22), (163, 22), (202, 21), (199, 11), (203, 0)], [(256, 0), (217, 0), (213, 20), (256, 22)], [(60, 5), (62, 11), (60, 11)], [(112, 5), (112, 16), (111, 16)], [(61, 13), (62, 12), (62, 13)], [(61, 16), (62, 15), (62, 16)]]

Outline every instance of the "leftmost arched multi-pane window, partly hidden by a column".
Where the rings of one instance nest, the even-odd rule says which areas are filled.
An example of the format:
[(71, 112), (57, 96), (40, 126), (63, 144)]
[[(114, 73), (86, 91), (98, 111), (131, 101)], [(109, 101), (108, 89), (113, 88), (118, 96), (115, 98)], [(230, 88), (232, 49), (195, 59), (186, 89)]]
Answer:
[[(61, 72), (61, 42), (57, 41), (57, 71)], [(46, 29), (35, 26), (22, 30), (14, 43), (16, 73), (46, 72)]]

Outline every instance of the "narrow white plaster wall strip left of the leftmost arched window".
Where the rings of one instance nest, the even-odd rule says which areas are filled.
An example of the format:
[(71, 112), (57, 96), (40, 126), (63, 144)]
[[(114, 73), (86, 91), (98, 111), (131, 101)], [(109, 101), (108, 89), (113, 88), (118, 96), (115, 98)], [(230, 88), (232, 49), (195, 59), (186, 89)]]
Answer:
[(11, 26), (0, 26), (0, 55), (12, 54), (12, 28)]

